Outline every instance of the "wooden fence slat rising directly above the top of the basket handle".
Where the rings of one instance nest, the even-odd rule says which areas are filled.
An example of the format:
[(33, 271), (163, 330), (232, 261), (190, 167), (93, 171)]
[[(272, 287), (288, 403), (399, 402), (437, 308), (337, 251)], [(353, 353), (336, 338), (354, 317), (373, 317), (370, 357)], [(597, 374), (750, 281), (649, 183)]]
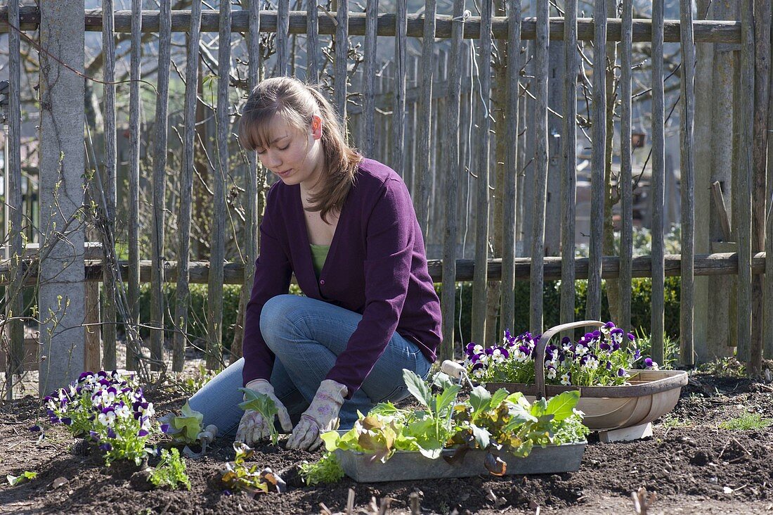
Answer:
[[(561, 149), (561, 306), (560, 322), (574, 321), (574, 230), (577, 215), (577, 0), (564, 4), (564, 132)], [(573, 331), (574, 332), (574, 331)]]

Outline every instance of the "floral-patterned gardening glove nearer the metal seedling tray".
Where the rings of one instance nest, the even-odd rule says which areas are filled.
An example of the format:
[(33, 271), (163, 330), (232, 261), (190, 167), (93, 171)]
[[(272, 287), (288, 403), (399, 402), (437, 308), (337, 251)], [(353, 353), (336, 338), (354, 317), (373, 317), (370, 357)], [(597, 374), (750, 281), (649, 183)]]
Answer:
[(322, 445), (319, 435), (338, 427), (338, 414), (348, 391), (346, 386), (332, 379), (322, 381), (308, 410), (303, 412), (301, 421), (293, 429), (287, 448), (314, 451)]

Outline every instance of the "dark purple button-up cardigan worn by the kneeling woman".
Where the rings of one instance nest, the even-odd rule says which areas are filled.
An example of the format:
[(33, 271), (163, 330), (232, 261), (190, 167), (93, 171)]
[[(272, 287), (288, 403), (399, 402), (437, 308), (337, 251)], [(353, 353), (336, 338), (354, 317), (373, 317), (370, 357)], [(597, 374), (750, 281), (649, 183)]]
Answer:
[(278, 181), (269, 189), (244, 321), (244, 384), (271, 378), (274, 353), (261, 335), (261, 311), (268, 299), (288, 293), (294, 272), (307, 297), (363, 315), (326, 377), (346, 385), (347, 398), (362, 385), (394, 331), (434, 362), (441, 342), (440, 301), (410, 194), (390, 167), (368, 159), (360, 163), (319, 280), (300, 187)]

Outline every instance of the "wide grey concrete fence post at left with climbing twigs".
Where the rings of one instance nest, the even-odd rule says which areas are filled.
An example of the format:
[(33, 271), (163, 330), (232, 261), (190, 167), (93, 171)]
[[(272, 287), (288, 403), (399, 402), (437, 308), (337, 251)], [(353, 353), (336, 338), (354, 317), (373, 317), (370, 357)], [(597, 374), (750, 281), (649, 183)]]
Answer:
[[(41, 318), (39, 393), (83, 366), (83, 0), (40, 6)], [(73, 71), (74, 70), (74, 71)]]

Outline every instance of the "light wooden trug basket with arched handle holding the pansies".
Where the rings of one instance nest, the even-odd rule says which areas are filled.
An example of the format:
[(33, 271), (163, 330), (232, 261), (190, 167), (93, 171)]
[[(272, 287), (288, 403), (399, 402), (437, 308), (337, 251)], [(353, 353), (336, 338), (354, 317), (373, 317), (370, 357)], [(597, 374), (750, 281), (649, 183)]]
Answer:
[(611, 431), (623, 427), (647, 424), (673, 410), (679, 400), (682, 386), (687, 384), (687, 373), (681, 370), (627, 370), (631, 376), (629, 385), (621, 386), (557, 386), (545, 384), (545, 369), (538, 366), (545, 359), (545, 348), (550, 338), (569, 329), (604, 322), (580, 321), (557, 325), (545, 331), (535, 347), (535, 384), (487, 383), (486, 389), (495, 392), (504, 388), (509, 392), (521, 392), (527, 400), (547, 398), (569, 390), (580, 391), (577, 410), (585, 417), (583, 424), (593, 431)]

